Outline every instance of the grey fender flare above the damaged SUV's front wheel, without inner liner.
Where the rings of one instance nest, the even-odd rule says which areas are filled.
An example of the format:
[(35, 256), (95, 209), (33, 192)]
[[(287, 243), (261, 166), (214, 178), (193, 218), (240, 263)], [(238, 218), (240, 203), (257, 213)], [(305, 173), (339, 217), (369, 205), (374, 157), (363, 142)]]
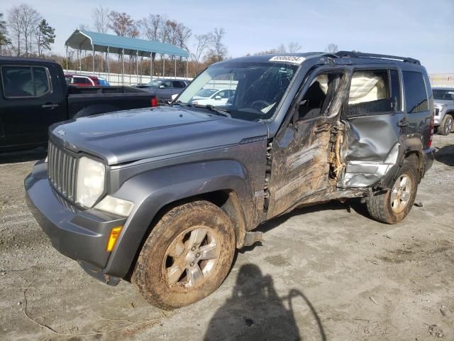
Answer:
[[(253, 216), (253, 190), (245, 168), (233, 160), (217, 160), (159, 168), (127, 180), (115, 197), (135, 203), (104, 274), (124, 278), (135, 260), (150, 224), (166, 205), (189, 197), (231, 190), (238, 195), (243, 217)], [(246, 219), (245, 219), (246, 220)]]

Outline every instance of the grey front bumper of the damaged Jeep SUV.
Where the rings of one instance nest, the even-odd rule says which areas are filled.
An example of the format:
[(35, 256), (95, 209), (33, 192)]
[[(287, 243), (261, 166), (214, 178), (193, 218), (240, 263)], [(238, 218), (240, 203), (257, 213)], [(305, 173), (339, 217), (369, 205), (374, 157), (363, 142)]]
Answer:
[(75, 259), (88, 274), (108, 284), (116, 278), (103, 274), (109, 260), (107, 239), (113, 227), (126, 218), (99, 210), (80, 210), (60, 197), (48, 180), (47, 163), (39, 161), (24, 181), (26, 201), (33, 216), (48, 235), (52, 246)]

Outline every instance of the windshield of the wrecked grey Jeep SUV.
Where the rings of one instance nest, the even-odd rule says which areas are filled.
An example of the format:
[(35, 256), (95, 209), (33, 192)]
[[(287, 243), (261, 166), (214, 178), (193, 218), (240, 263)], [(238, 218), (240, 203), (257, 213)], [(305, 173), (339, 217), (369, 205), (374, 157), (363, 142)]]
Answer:
[[(221, 63), (202, 72), (179, 95), (193, 107), (221, 109), (236, 119), (269, 119), (289, 87), (299, 65), (287, 63)], [(200, 99), (201, 91), (219, 91)]]

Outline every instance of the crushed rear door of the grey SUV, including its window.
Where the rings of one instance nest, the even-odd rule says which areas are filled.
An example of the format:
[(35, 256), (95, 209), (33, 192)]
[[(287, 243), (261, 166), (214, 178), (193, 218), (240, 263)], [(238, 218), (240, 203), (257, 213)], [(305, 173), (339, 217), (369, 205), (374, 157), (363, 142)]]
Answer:
[(394, 173), (400, 160), (401, 130), (408, 121), (402, 111), (399, 71), (355, 70), (345, 107), (341, 146), (344, 169), (338, 187), (372, 187)]

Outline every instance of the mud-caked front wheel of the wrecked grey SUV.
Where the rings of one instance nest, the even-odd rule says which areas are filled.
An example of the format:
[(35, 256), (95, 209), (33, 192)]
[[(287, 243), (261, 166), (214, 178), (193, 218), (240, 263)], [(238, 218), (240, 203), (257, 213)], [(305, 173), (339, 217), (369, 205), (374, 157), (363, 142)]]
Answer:
[(216, 205), (196, 201), (175, 207), (150, 232), (131, 282), (159, 308), (189, 305), (221, 286), (235, 245), (231, 220)]

